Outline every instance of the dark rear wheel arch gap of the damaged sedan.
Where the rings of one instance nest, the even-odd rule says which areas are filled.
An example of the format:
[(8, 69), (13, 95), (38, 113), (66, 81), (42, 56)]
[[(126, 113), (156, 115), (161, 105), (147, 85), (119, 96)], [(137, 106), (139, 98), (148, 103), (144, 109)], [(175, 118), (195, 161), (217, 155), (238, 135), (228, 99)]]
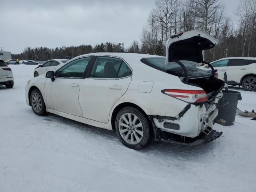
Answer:
[(116, 120), (116, 116), (118, 114), (118, 112), (124, 108), (124, 107), (134, 107), (138, 110), (140, 110), (140, 112), (142, 112), (142, 114), (144, 114), (144, 116), (148, 119), (148, 122), (150, 123), (150, 126), (152, 127), (152, 123), (150, 121), (150, 119), (148, 118), (148, 115), (146, 114), (146, 112), (138, 105), (131, 103), (131, 102), (124, 102), (124, 103), (120, 103), (118, 104), (118, 106), (116, 106), (111, 114), (111, 126), (112, 126), (112, 130), (115, 130), (115, 120)]

